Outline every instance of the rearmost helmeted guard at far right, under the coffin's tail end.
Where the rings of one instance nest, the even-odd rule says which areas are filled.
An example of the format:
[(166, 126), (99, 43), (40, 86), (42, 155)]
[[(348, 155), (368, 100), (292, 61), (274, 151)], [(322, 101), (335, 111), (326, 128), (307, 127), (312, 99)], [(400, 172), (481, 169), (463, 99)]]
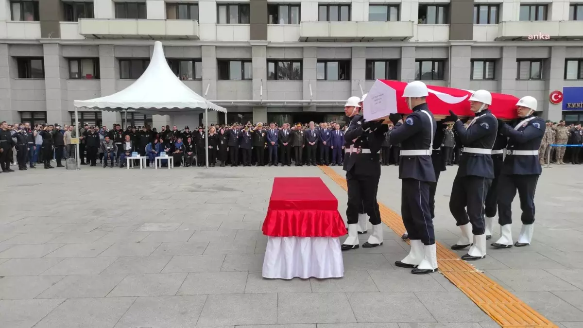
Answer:
[(522, 209), (522, 229), (514, 246), (530, 245), (535, 222), (535, 190), (542, 168), (539, 162), (539, 147), (545, 134), (545, 121), (533, 116), (536, 99), (522, 97), (516, 104), (521, 119), (514, 128), (498, 120), (500, 133), (508, 138), (508, 146), (500, 184), (498, 185), (498, 222), (500, 239), (492, 244), (496, 248), (512, 247), (512, 201), (518, 190)]

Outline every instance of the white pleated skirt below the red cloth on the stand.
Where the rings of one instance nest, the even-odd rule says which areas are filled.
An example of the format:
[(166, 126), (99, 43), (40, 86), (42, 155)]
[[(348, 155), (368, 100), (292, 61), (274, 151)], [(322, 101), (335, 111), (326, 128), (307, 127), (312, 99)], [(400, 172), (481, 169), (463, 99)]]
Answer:
[(340, 239), (268, 237), (262, 275), (272, 279), (343, 277)]

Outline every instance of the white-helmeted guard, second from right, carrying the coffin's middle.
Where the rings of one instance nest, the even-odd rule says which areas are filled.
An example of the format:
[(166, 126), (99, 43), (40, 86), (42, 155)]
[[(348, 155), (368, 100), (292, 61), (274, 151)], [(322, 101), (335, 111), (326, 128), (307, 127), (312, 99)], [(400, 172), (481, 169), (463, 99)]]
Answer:
[[(486, 257), (484, 201), (494, 179), (494, 163), (490, 155), (498, 134), (498, 121), (488, 109), (492, 104), (490, 92), (477, 90), (469, 101), (475, 117), (467, 128), (451, 110), (445, 121), (455, 122), (454, 130), (463, 145), (449, 198), (449, 211), (461, 229), (461, 237), (451, 249), (462, 250), (472, 243), (468, 253), (462, 256), (462, 260), (471, 261)], [(473, 239), (470, 239), (472, 234)]]

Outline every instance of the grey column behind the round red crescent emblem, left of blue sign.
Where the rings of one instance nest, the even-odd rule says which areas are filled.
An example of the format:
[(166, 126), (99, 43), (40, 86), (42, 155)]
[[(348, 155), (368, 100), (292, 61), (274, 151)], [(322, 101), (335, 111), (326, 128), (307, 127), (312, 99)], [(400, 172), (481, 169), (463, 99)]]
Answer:
[(543, 103), (539, 102), (538, 108), (539, 110), (543, 110), (543, 118), (556, 122), (563, 117), (563, 103), (550, 103), (548, 95), (554, 90), (563, 91), (567, 48), (551, 47), (550, 51), (551, 54), (546, 62), (547, 65), (544, 65), (545, 72), (543, 72), (543, 76), (545, 77), (545, 97), (543, 98)]

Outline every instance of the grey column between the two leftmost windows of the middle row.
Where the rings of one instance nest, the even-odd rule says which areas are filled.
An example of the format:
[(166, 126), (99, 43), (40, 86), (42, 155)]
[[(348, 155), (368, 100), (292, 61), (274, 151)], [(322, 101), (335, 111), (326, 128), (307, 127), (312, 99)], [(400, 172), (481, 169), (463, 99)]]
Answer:
[(60, 44), (43, 44), (43, 53), (47, 121), (63, 124), (69, 122), (71, 118), (69, 116), (66, 80), (69, 77), (69, 63), (62, 56)]

